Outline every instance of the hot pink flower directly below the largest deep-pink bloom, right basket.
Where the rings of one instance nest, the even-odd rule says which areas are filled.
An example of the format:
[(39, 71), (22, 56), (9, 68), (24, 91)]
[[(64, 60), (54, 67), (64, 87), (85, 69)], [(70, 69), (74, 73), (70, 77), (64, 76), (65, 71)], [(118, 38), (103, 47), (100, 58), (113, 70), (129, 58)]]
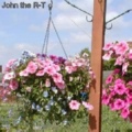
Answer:
[(116, 99), (113, 103), (116, 110), (121, 110), (125, 106), (125, 102), (122, 99)]

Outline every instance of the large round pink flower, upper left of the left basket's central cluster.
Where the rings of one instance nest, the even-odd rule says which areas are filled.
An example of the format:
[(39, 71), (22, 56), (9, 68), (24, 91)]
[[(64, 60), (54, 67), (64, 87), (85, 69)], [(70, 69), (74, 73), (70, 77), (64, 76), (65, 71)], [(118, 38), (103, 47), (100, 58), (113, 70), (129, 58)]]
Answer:
[(26, 72), (30, 73), (30, 74), (35, 74), (36, 69), (37, 69), (37, 65), (34, 62), (31, 61), (28, 64)]

